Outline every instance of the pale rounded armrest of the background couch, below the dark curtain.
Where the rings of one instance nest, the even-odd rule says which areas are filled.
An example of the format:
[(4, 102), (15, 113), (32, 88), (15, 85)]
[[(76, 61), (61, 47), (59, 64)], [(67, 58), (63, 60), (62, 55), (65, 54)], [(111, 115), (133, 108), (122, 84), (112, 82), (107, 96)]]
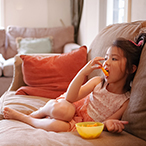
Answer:
[(80, 45), (76, 44), (76, 43), (68, 43), (64, 46), (63, 48), (63, 53), (69, 53), (75, 49), (79, 49)]

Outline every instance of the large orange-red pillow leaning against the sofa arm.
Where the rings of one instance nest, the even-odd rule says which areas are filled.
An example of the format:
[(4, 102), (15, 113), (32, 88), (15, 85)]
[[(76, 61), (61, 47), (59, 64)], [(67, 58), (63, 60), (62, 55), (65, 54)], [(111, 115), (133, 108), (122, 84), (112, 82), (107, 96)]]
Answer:
[(21, 55), (24, 82), (16, 94), (56, 98), (87, 62), (87, 48), (51, 57)]

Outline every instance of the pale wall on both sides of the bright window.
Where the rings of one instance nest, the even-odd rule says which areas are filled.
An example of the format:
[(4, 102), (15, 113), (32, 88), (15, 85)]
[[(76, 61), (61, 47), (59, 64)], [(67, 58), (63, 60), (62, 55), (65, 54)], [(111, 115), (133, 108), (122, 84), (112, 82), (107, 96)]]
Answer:
[[(131, 21), (146, 20), (146, 0), (126, 0), (131, 2)], [(78, 43), (88, 48), (95, 36), (106, 27), (106, 0), (84, 0)]]

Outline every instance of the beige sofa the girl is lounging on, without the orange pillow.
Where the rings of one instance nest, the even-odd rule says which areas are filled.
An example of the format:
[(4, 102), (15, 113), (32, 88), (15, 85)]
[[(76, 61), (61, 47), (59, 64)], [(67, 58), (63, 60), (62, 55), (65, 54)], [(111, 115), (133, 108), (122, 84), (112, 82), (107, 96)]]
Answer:
[[(140, 32), (145, 31), (146, 21), (133, 23), (115, 24), (106, 27), (94, 39), (88, 52), (88, 60), (95, 56), (104, 56), (106, 49), (117, 37), (133, 40)], [(50, 54), (48, 54), (50, 55)], [(145, 146), (146, 145), (146, 46), (141, 55), (140, 64), (132, 85), (129, 105), (124, 112), (122, 120), (128, 120), (125, 131), (121, 134), (112, 134), (103, 131), (96, 139), (83, 139), (77, 132), (46, 132), (35, 129), (27, 124), (15, 120), (3, 119), (2, 110), (9, 106), (25, 114), (43, 106), (49, 99), (31, 95), (15, 95), (19, 87), (27, 86), (24, 83), (22, 73), (22, 60), (15, 57), (15, 77), (7, 92), (0, 99), (0, 145), (1, 146), (47, 146), (47, 145), (73, 145), (73, 146)], [(67, 61), (66, 61), (67, 62)], [(70, 64), (74, 67), (74, 64)], [(97, 70), (89, 78), (99, 75)], [(60, 83), (61, 84), (61, 83)]]

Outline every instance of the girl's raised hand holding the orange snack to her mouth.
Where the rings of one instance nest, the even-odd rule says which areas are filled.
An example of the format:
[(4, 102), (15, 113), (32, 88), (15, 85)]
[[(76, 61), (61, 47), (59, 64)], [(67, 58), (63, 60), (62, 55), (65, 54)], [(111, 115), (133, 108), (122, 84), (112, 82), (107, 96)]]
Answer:
[(90, 60), (81, 70), (86, 76), (88, 76), (93, 70), (99, 69), (102, 66), (101, 60), (104, 60), (103, 57), (95, 57), (93, 60)]

